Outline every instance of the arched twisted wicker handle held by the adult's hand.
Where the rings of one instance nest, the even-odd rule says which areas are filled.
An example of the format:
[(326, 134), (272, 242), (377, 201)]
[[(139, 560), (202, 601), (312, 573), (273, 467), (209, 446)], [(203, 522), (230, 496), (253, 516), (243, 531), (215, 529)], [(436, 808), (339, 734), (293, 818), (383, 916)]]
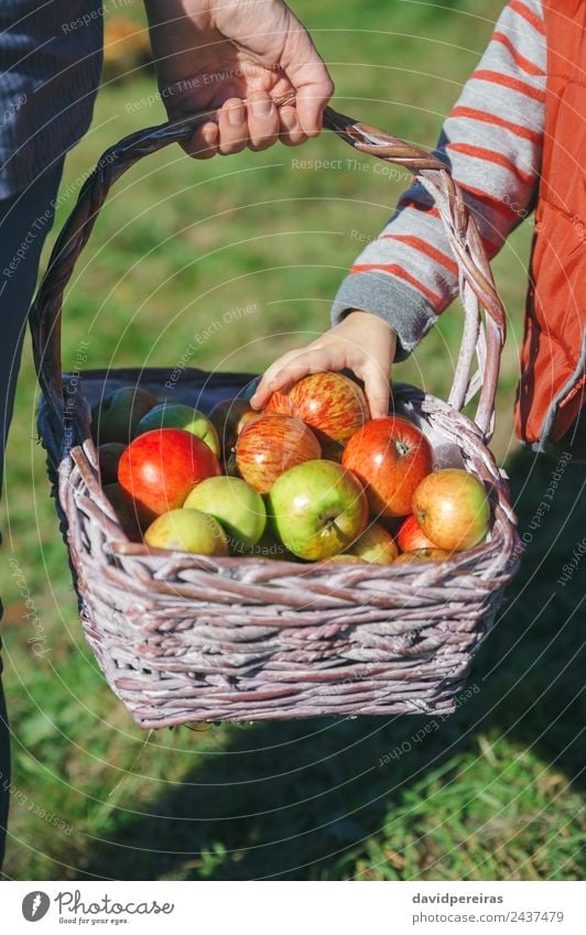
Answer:
[[(278, 98), (275, 104), (281, 107), (293, 99), (294, 93), (291, 93)], [(143, 156), (170, 143), (188, 140), (197, 127), (217, 117), (217, 111), (202, 111), (131, 133), (106, 150), (83, 185), (77, 203), (53, 247), (47, 270), (30, 312), (34, 365), (47, 402), (47, 417), (56, 437), (62, 437), (64, 432), (61, 359), (63, 295), (110, 187)], [(329, 107), (325, 108), (323, 121), (324, 127), (360, 152), (408, 168), (434, 198), (458, 264), (465, 311), (463, 340), (448, 402), (462, 410), (480, 390), (475, 422), (482, 438), (488, 441), (492, 434), (506, 316), (476, 222), (460, 189), (444, 163), (424, 150), (383, 130), (337, 113)], [(481, 307), (486, 311), (484, 318)], [(475, 352), (478, 370), (473, 374)]]

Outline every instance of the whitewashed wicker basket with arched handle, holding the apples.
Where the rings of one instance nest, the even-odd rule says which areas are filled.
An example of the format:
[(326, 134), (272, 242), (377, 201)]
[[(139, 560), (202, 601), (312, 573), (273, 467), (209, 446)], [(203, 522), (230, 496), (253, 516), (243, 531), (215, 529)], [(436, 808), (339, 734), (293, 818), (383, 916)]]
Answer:
[[(63, 293), (112, 183), (142, 156), (191, 137), (208, 116), (134, 133), (102, 155), (31, 309), (43, 391), (39, 430), (87, 640), (142, 728), (449, 713), (516, 572), (518, 539), (506, 478), (486, 447), (504, 313), (476, 225), (435, 156), (325, 111), (325, 126), (347, 143), (416, 174), (446, 226), (465, 307), (449, 401), (397, 387), (394, 406), (424, 431), (440, 464), (465, 466), (485, 482), (495, 517), (489, 542), (445, 562), (397, 566), (199, 557), (129, 542), (100, 489), (89, 405), (124, 384), (161, 391), (169, 370), (62, 374)], [(174, 398), (206, 410), (251, 379), (186, 370)], [(476, 393), (473, 422), (460, 410)]]

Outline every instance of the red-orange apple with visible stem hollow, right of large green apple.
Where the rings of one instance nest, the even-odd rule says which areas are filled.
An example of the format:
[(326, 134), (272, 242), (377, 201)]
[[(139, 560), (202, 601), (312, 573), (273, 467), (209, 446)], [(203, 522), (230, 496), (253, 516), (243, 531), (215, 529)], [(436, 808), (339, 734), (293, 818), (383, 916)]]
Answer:
[(415, 488), (433, 468), (433, 452), (415, 425), (388, 415), (371, 418), (352, 435), (341, 464), (365, 485), (377, 518), (406, 517)]

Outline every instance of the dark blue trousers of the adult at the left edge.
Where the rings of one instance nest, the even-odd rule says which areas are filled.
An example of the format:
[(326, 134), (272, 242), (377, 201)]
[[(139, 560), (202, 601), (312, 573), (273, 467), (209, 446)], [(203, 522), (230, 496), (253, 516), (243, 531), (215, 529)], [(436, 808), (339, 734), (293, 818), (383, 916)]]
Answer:
[[(53, 222), (53, 203), (62, 171), (63, 161), (59, 161), (57, 167), (46, 170), (25, 191), (0, 199), (0, 489), (26, 316), (41, 248)], [(10, 785), (10, 742), (1, 671), (0, 659), (0, 867)]]

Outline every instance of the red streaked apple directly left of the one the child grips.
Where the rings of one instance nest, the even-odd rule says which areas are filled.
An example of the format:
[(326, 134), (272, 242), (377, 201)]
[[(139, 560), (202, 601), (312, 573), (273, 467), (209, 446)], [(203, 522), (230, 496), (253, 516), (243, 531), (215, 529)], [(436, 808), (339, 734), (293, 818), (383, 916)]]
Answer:
[(259, 493), (268, 493), (276, 478), (295, 465), (322, 454), (319, 442), (299, 418), (261, 414), (251, 420), (236, 442), (236, 467)]

